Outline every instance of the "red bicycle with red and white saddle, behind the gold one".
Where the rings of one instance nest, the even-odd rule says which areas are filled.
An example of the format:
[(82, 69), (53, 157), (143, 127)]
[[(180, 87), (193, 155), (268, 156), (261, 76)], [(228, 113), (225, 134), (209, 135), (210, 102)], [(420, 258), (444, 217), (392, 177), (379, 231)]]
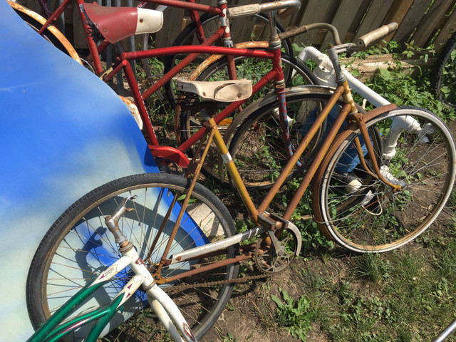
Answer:
[[(175, 6), (177, 6), (176, 3), (179, 3), (178, 4), (179, 6), (184, 6), (186, 4), (183, 1), (171, 1), (171, 2), (173, 4), (175, 4)], [(291, 1), (291, 2), (293, 2), (293, 1)], [(294, 2), (296, 3), (295, 7), (300, 4), (299, 1), (294, 1)], [(281, 1), (281, 6), (287, 6), (287, 5), (288, 5), (287, 1)], [(103, 22), (102, 25), (107, 24), (107, 26), (110, 26), (111, 31), (113, 31), (114, 28), (116, 28), (116, 29), (118, 28), (117, 27), (118, 20), (120, 17), (131, 15), (132, 13), (135, 13), (135, 11), (137, 11), (137, 9), (132, 9), (132, 8), (111, 9), (111, 8), (105, 8), (102, 6), (99, 6), (99, 8), (98, 8), (97, 6), (95, 6), (93, 4), (85, 4), (84, 6), (85, 6), (84, 8), (86, 9), (86, 12), (90, 12), (89, 20), (90, 20), (90, 18), (93, 19), (93, 21), (95, 21), (95, 24), (97, 21), (99, 22), (100, 20), (107, 21), (107, 22)], [(262, 6), (261, 9), (266, 8), (266, 4), (263, 4), (261, 6)], [(210, 7), (211, 11), (215, 11), (214, 7), (211, 7), (211, 6), (209, 6), (209, 7)], [(243, 7), (243, 6), (241, 6), (241, 7)], [(197, 8), (199, 9), (199, 7), (197, 7)], [(204, 9), (207, 9), (207, 8), (208, 8), (208, 6), (204, 6)], [(239, 7), (238, 7), (238, 9), (239, 9)], [(106, 11), (115, 12), (115, 14), (107, 13)], [(157, 14), (156, 11), (151, 11), (151, 10), (147, 10), (147, 9), (144, 9), (143, 11), (147, 11), (147, 12), (142, 12), (142, 13), (145, 13), (145, 15), (146, 14), (150, 15), (152, 18), (156, 17), (157, 15), (160, 17), (160, 14)], [(103, 12), (105, 14), (103, 14)], [(235, 15), (235, 13), (236, 13), (235, 11), (232, 11), (232, 16), (230, 18), (235, 19), (237, 17)], [(100, 14), (102, 14), (102, 15), (100, 16)], [(256, 14), (261, 14), (261, 10), (257, 11)], [(96, 19), (94, 19), (95, 17), (96, 17)], [(146, 16), (144, 17), (144, 19), (145, 19), (145, 21), (147, 21)], [(92, 24), (92, 27), (90, 27), (91, 32), (98, 31), (95, 24)], [(131, 26), (132, 28), (134, 28), (133, 30), (131, 30), (131, 29), (130, 30), (124, 29), (123, 31), (120, 30), (120, 32), (118, 32), (117, 36), (115, 36), (115, 37), (110, 36), (111, 42), (115, 43), (117, 41), (120, 41), (122, 38), (125, 38), (125, 36), (130, 36), (132, 34), (137, 33), (137, 28), (136, 28), (137, 26), (135, 26), (133, 24), (135, 24), (135, 23), (132, 23), (132, 26)], [(154, 21), (154, 24), (157, 24), (157, 22)], [(155, 31), (155, 30), (159, 29), (159, 26), (160, 25), (158, 25), (157, 27), (152, 27), (152, 29), (147, 28), (146, 31)], [(277, 26), (275, 25), (275, 27), (277, 27)], [(104, 40), (103, 36), (101, 36), (99, 34), (97, 35), (95, 33), (95, 36), (98, 36), (100, 38), (100, 41), (102, 39)], [(221, 32), (220, 32), (220, 30), (217, 30), (217, 32), (214, 33), (214, 35), (212, 35), (211, 39), (215, 40), (217, 37), (220, 37), (220, 36), (221, 36)], [(90, 38), (90, 39), (93, 40), (92, 38)], [(206, 43), (207, 44), (212, 43), (211, 39), (207, 40)], [(204, 43), (204, 44), (206, 44), (206, 43)], [(212, 48), (214, 50), (212, 50)], [(212, 48), (209, 48), (209, 46), (207, 46), (207, 47), (206, 46), (193, 46), (193, 47), (175, 46), (175, 47), (170, 47), (170, 48), (157, 48), (157, 49), (147, 50), (147, 51), (138, 51), (138, 52), (133, 51), (133, 52), (120, 53), (118, 55), (118, 61), (116, 61), (116, 63), (113, 65), (113, 68), (109, 69), (108, 71), (105, 71), (102, 75), (102, 77), (105, 81), (110, 81), (115, 77), (115, 75), (118, 73), (118, 71), (120, 71), (120, 70), (124, 71), (125, 77), (128, 81), (128, 85), (130, 86), (130, 91), (133, 95), (133, 99), (135, 100), (135, 104), (137, 106), (137, 108), (133, 109), (133, 112), (136, 113), (138, 116), (140, 116), (140, 121), (144, 127), (145, 135), (147, 136), (148, 140), (150, 141), (149, 146), (150, 146), (150, 149), (152, 150), (152, 153), (155, 156), (162, 157), (162, 159), (165, 159), (165, 160), (171, 159), (171, 161), (174, 162), (179, 167), (187, 167), (189, 160), (183, 152), (189, 151), (190, 147), (192, 147), (192, 145), (194, 145), (195, 142), (197, 142), (197, 140), (199, 140), (199, 138), (201, 138), (202, 131), (197, 133), (197, 135), (193, 136), (192, 138), (190, 138), (189, 135), (186, 135), (185, 138), (182, 139), (182, 141), (186, 140), (185, 142), (182, 142), (182, 145), (180, 145), (178, 147), (178, 149), (182, 153), (180, 153), (180, 154), (171, 153), (170, 150), (168, 149), (168, 147), (160, 146), (160, 144), (157, 140), (157, 137), (155, 135), (155, 132), (152, 128), (152, 125), (150, 123), (149, 114), (148, 114), (147, 108), (145, 106), (144, 100), (146, 100), (147, 98), (150, 98), (150, 96), (152, 96), (152, 94), (154, 94), (165, 83), (167, 83), (167, 81), (170, 81), (170, 79), (174, 78), (178, 73), (180, 73), (180, 71), (182, 71), (182, 69), (185, 68), (187, 63), (190, 63), (191, 59), (196, 58), (196, 56), (200, 53), (222, 53), (224, 56), (227, 56), (227, 58), (229, 58), (230, 56), (234, 56), (234, 58), (244, 58), (244, 59), (246, 57), (254, 56), (256, 58), (263, 58), (264, 61), (269, 62), (269, 63), (266, 63), (266, 65), (264, 66), (264, 70), (262, 71), (262, 73), (260, 75), (255, 75), (256, 77), (258, 77), (257, 79), (260, 79), (261, 76), (263, 76), (263, 73), (266, 74), (264, 77), (261, 78), (261, 81), (257, 83), (257, 88), (255, 88), (254, 93), (257, 93), (257, 92), (259, 93), (261, 91), (264, 94), (267, 91), (269, 91), (270, 90), (270, 81), (274, 78), (274, 73), (272, 73), (272, 72), (274, 72), (275, 67), (271, 60), (272, 60), (272, 58), (276, 58), (276, 57), (274, 57), (273, 54), (270, 52), (268, 53), (267, 51), (264, 51), (263, 49), (247, 49), (247, 48), (233, 49), (233, 48), (222, 48), (222, 47), (212, 47)], [(130, 66), (127, 65), (128, 62), (136, 61), (139, 59), (144, 60), (144, 59), (154, 58), (157, 56), (176, 56), (177, 53), (187, 53), (187, 54), (190, 53), (190, 56), (188, 56), (189, 58), (185, 58), (185, 60), (182, 61), (182, 63), (179, 63), (178, 66), (176, 66), (175, 68), (172, 68), (172, 70), (169, 73), (167, 73), (163, 78), (161, 78), (160, 81), (157, 81), (157, 83), (154, 83), (150, 88), (148, 88), (144, 92), (141, 92), (140, 88), (138, 86), (138, 82), (135, 79), (135, 72), (134, 72), (133, 68), (131, 68)], [(299, 61), (296, 61), (291, 56), (287, 56), (285, 53), (282, 53), (280, 57), (281, 57), (281, 62), (283, 63), (283, 66), (284, 66), (284, 70), (285, 70), (284, 72), (286, 75), (285, 81), (286, 81), (287, 85), (291, 84), (291, 82), (295, 78), (299, 78), (299, 83), (315, 83), (316, 82), (311, 71), (309, 71), (309, 69), (306, 68), (306, 66), (304, 66), (304, 63), (299, 63)], [(258, 65), (260, 63), (256, 63), (256, 64)], [(211, 68), (209, 68), (209, 69), (211, 69)], [(291, 76), (291, 71), (295, 71), (296, 76)], [(248, 72), (247, 77), (249, 77), (249, 78), (252, 77), (251, 74), (252, 74), (251, 72)], [(240, 73), (238, 70), (238, 76), (239, 75), (240, 75)], [(130, 106), (130, 108), (131, 108), (131, 106)], [(139, 112), (137, 110), (139, 110)], [(276, 112), (276, 113), (278, 113), (278, 112)], [(229, 115), (228, 112), (225, 112), (224, 115), (217, 117), (217, 119), (216, 119), (217, 122), (221, 123), (222, 120), (226, 119), (228, 115)], [(176, 120), (176, 123), (179, 123), (179, 120)], [(177, 138), (180, 138), (179, 133), (177, 133)], [(190, 153), (190, 155), (191, 155), (191, 153)], [(212, 170), (212, 169), (213, 169), (213, 167), (205, 168), (205, 170), (208, 170), (207, 174), (213, 175), (214, 177), (219, 177), (217, 168), (215, 168), (215, 170)]]

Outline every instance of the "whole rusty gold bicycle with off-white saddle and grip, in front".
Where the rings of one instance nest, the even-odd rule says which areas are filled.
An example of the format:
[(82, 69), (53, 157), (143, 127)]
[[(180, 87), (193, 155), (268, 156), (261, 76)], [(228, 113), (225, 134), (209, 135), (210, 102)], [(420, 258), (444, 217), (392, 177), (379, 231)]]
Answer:
[[(234, 135), (229, 148), (236, 144), (246, 158), (252, 160), (257, 155), (263, 158), (264, 146), (283, 146), (291, 141), (286, 136), (289, 113), (312, 115), (314, 120), (298, 145), (286, 145), (291, 148), (289, 162), (279, 177), (274, 177), (259, 206), (249, 197), (234, 163), (235, 156), (228, 151), (212, 118), (220, 100), (229, 103), (222, 113), (235, 110), (247, 101), (249, 93), (242, 93), (246, 96), (243, 100), (237, 98), (239, 90), (249, 90), (248, 83), (180, 81), (182, 107), (204, 118), (201, 134), (206, 139), (199, 142), (195, 159), (187, 168), (187, 176), (193, 174), (193, 177), (165, 174), (125, 177), (93, 190), (68, 209), (41, 242), (28, 274), (28, 309), (36, 326), (84, 286), (91, 274), (97, 275), (107, 260), (117, 257), (101, 218), (132, 195), (138, 196), (133, 202), (134, 209), (120, 219), (120, 229), (136, 242), (138, 254), (157, 284), (167, 291), (176, 291), (172, 299), (197, 338), (204, 336), (217, 320), (234, 284), (256, 279), (255, 276), (238, 278), (239, 262), (254, 259), (259, 270), (273, 274), (299, 254), (301, 237), (293, 222), (301, 218), (294, 217), (294, 209), (311, 181), (317, 224), (328, 238), (347, 249), (387, 252), (422, 234), (450, 195), (456, 171), (455, 142), (445, 124), (421, 108), (386, 105), (360, 113), (338, 64), (338, 53), (362, 50), (393, 28), (395, 25), (384, 26), (361, 37), (358, 44), (330, 49), (336, 89), (309, 86), (285, 90), (280, 65), (275, 64), (276, 93), (266, 95), (246, 109), (252, 115)], [(211, 47), (204, 52), (217, 53), (219, 49)], [(276, 56), (277, 50), (272, 51)], [(180, 50), (173, 50), (177, 51)], [(258, 52), (257, 56), (266, 53)], [(227, 92), (219, 93), (220, 90)], [(201, 101), (201, 98), (209, 100)], [(318, 103), (324, 104), (322, 110)], [(278, 135), (276, 123), (274, 130), (269, 130), (269, 124), (276, 119), (270, 115), (275, 108), (279, 109), (284, 135)], [(318, 136), (334, 108), (338, 112), (336, 120), (328, 132)], [(264, 113), (268, 115), (265, 117)], [(343, 123), (348, 125), (342, 128)], [(236, 233), (224, 204), (197, 183), (212, 141), (255, 224), (246, 232)], [(315, 148), (309, 149), (311, 145)], [(304, 180), (296, 194), (284, 213), (268, 212), (274, 195), (299, 160), (306, 167), (300, 169)], [(115, 279), (113, 288), (125, 284), (129, 277), (127, 273)], [(97, 304), (111, 296), (106, 291)], [(145, 305), (144, 294), (135, 293), (135, 301), (113, 324), (133, 316)]]

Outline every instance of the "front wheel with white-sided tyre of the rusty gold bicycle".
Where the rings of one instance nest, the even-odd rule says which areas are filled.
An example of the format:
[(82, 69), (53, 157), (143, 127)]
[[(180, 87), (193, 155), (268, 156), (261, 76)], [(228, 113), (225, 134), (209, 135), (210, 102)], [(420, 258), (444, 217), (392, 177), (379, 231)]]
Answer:
[[(423, 142), (417, 133), (402, 130), (393, 159), (378, 156), (380, 170), (388, 180), (401, 185), (399, 192), (380, 180), (362, 175), (362, 168), (353, 162), (358, 157), (351, 149), (351, 142), (338, 149), (339, 162), (333, 162), (323, 178), (323, 189), (326, 188), (321, 197), (321, 205), (326, 208), (323, 219), (331, 228), (328, 229), (331, 236), (356, 252), (385, 252), (418, 237), (440, 213), (455, 177), (454, 143), (446, 135), (445, 125), (425, 112), (422, 115), (421, 110), (394, 113), (400, 113), (401, 118), (409, 114), (421, 127), (430, 123), (435, 129), (434, 133), (425, 135), (429, 142)], [(383, 141), (388, 137), (390, 117), (394, 113), (373, 120), (378, 127), (383, 126), (380, 128)], [(350, 162), (356, 166), (349, 166)], [(341, 175), (346, 173), (361, 183), (343, 180)]]

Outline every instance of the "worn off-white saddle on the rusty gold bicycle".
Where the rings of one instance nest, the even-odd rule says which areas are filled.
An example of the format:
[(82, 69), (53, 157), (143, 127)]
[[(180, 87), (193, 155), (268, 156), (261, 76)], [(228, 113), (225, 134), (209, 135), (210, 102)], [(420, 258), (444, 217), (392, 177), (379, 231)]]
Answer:
[(177, 81), (177, 90), (195, 93), (208, 100), (234, 102), (252, 95), (252, 80), (234, 81)]

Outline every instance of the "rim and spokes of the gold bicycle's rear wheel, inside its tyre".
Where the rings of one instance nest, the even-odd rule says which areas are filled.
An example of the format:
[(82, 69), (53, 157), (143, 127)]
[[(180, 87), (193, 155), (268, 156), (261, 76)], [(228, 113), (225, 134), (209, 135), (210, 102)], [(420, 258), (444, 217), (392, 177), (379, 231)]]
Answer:
[[(172, 192), (182, 190), (182, 187), (170, 187)], [(147, 194), (141, 196), (140, 192), (147, 192)], [(155, 192), (162, 194), (160, 202), (152, 201), (152, 193)], [(149, 187), (147, 190), (143, 189), (142, 186), (129, 187), (128, 191), (119, 190), (108, 198), (104, 197), (86, 209), (86, 211), (80, 215), (79, 219), (75, 219), (71, 226), (74, 227), (69, 230), (68, 234), (56, 243), (51, 253), (55, 253), (53, 259), (49, 259), (46, 263), (44, 279), (42, 285), (42, 296), (44, 299), (48, 299), (43, 306), (45, 306), (45, 316), (55, 311), (58, 306), (63, 304), (70, 296), (76, 293), (81, 286), (87, 284), (92, 276), (96, 276), (102, 271), (107, 264), (112, 264), (113, 261), (118, 259), (117, 248), (113, 242), (113, 237), (100, 218), (113, 212), (116, 205), (119, 203), (125, 194), (140, 195), (135, 200), (134, 207), (135, 216), (126, 214), (120, 222), (121, 229), (125, 230), (124, 234), (138, 248), (140, 257), (145, 260), (145, 264), (153, 266), (157, 261), (160, 260), (160, 255), (165, 248), (165, 242), (167, 239), (162, 239), (157, 244), (150, 260), (146, 258), (147, 245), (150, 245), (154, 237), (154, 230), (156, 230), (157, 224), (160, 221), (160, 214), (164, 212), (165, 207), (169, 207), (170, 197), (166, 190), (163, 191), (161, 188)], [(168, 196), (167, 196), (168, 195)], [(187, 212), (192, 215), (185, 216), (182, 219), (181, 227), (177, 233), (177, 237), (173, 241), (170, 249), (170, 255), (187, 249), (188, 247), (195, 247), (195, 245), (204, 244), (202, 242), (205, 237), (202, 237), (197, 231), (195, 226), (196, 220), (199, 222), (199, 227), (207, 232), (212, 232), (213, 236), (210, 239), (219, 239), (220, 229), (223, 229), (220, 222), (223, 219), (219, 218), (219, 214), (214, 212), (214, 207), (209, 207), (206, 202), (200, 202), (202, 197), (195, 194), (192, 197), (193, 201), (190, 204)], [(141, 202), (144, 201), (144, 202)], [(168, 202), (167, 202), (168, 201)], [(154, 204), (155, 203), (155, 204)], [(155, 205), (155, 207), (154, 207)], [(210, 205), (210, 204), (209, 204)], [(150, 209), (150, 208), (153, 208)], [(210, 212), (210, 213), (209, 213)], [(211, 216), (212, 214), (212, 216)], [(177, 212), (173, 210), (172, 217), (177, 216)], [(171, 220), (172, 220), (171, 217)], [(141, 224), (139, 224), (141, 222)], [(147, 222), (147, 223), (146, 223)], [(187, 227), (184, 229), (184, 227)], [(170, 222), (165, 226), (165, 237), (169, 236), (170, 229), (172, 229)], [(189, 227), (190, 228), (189, 230)], [(128, 234), (130, 232), (130, 234)], [(196, 234), (196, 235), (195, 235)], [(197, 235), (199, 234), (199, 237)], [(223, 234), (223, 232), (222, 232)], [(210, 235), (210, 234), (209, 234)], [(146, 241), (147, 240), (147, 241)], [(232, 256), (233, 251), (231, 250), (230, 255)], [(220, 257), (218, 257), (220, 258)], [(172, 276), (179, 274), (182, 271), (197, 267), (197, 264), (208, 264), (209, 259), (192, 261), (183, 263), (177, 267), (170, 267), (162, 272), (162, 276)], [(193, 282), (204, 282), (209, 280), (222, 280), (230, 279), (234, 276), (234, 269), (232, 266), (228, 266), (225, 269), (217, 269), (217, 275), (214, 274), (200, 274), (191, 276), (186, 279), (178, 280), (170, 284), (164, 285), (169, 287), (172, 285), (190, 284)], [(103, 293), (97, 294), (93, 299), (90, 299), (88, 303), (78, 312), (87, 310), (91, 306), (100, 306), (108, 302), (120, 289), (126, 284), (130, 277), (129, 271), (123, 272), (117, 278), (115, 278), (109, 286), (106, 286)], [(230, 290), (227, 286), (212, 286), (209, 289), (188, 289), (182, 291), (180, 295), (172, 295), (175, 302), (182, 310), (185, 318), (189, 322), (190, 326), (195, 329), (195, 334), (201, 336), (212, 323), (209, 323), (210, 316), (209, 311), (219, 310), (220, 308), (217, 299), (227, 295), (227, 291)], [(48, 304), (48, 305), (47, 305)], [(135, 300), (130, 300), (124, 305), (123, 316), (118, 314), (113, 320), (110, 321), (110, 326), (117, 326), (125, 318), (130, 318), (135, 312), (140, 309), (144, 309), (147, 305), (145, 294), (141, 291), (135, 293)], [(183, 308), (183, 309), (182, 309)], [(223, 308), (223, 306), (222, 306)], [(146, 310), (147, 311), (147, 310)], [(144, 311), (145, 312), (145, 311)], [(135, 316), (135, 323), (144, 324), (147, 321), (147, 314), (141, 314)], [(208, 321), (209, 319), (209, 321)], [(139, 320), (139, 321), (138, 321)], [(150, 321), (150, 319), (149, 319)], [(149, 322), (150, 323), (150, 322)], [(131, 327), (131, 326), (130, 326)], [(78, 331), (81, 336), (84, 336), (87, 329)], [(105, 331), (106, 332), (106, 331)]]

